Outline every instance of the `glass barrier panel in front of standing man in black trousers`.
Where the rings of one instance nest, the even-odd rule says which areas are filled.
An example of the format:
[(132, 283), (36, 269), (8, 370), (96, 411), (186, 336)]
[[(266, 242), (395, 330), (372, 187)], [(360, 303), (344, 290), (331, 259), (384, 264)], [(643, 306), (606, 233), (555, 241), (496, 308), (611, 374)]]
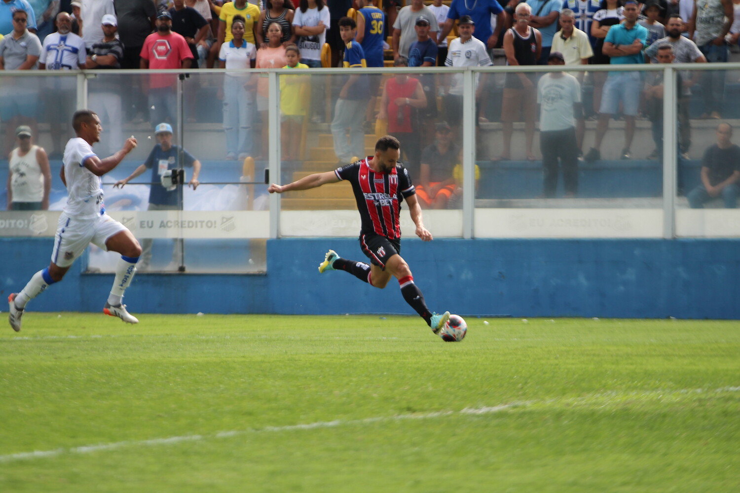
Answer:
[(661, 236), (650, 115), (662, 112), (662, 99), (645, 98), (655, 73), (487, 74), (475, 236)]

